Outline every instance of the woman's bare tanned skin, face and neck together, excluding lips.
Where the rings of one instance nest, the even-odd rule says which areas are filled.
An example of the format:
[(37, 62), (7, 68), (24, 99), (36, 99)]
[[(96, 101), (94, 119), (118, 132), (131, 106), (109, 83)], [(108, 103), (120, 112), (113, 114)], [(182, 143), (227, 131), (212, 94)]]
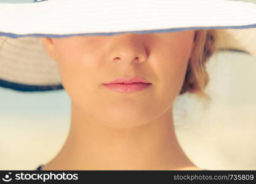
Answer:
[[(71, 99), (68, 138), (42, 170), (201, 170), (180, 147), (173, 120), (194, 34), (41, 37)], [(152, 85), (135, 93), (102, 86), (134, 76)]]

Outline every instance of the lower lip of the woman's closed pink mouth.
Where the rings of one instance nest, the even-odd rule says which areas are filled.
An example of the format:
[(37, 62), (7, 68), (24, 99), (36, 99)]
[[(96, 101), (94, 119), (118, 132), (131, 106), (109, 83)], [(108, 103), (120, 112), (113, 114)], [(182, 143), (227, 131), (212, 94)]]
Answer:
[(133, 93), (148, 88), (151, 83), (111, 83), (102, 85), (119, 93)]

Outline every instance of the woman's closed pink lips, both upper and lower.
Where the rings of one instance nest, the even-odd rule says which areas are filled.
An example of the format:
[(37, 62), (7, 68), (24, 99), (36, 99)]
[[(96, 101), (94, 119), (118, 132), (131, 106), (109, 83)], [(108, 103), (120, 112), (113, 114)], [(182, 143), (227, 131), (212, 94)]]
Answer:
[(102, 85), (119, 93), (132, 93), (148, 88), (151, 86), (151, 83), (141, 77), (134, 77), (132, 79), (114, 79)]

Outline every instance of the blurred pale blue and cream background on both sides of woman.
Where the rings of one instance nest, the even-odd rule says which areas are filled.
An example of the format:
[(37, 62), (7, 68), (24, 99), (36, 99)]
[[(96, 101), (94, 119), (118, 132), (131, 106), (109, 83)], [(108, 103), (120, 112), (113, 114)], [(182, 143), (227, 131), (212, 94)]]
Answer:
[[(212, 102), (194, 94), (176, 99), (177, 137), (198, 167), (256, 170), (255, 69), (256, 58), (246, 53), (215, 53), (207, 63)], [(70, 127), (68, 94), (0, 88), (0, 101), (0, 170), (34, 170), (54, 158)]]

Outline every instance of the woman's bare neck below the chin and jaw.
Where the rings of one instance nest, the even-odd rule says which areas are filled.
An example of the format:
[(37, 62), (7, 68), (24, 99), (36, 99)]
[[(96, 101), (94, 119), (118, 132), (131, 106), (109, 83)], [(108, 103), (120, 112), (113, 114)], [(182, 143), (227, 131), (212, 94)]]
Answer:
[(145, 125), (114, 128), (72, 104), (71, 126), (62, 150), (43, 170), (197, 169), (175, 136), (172, 107)]

